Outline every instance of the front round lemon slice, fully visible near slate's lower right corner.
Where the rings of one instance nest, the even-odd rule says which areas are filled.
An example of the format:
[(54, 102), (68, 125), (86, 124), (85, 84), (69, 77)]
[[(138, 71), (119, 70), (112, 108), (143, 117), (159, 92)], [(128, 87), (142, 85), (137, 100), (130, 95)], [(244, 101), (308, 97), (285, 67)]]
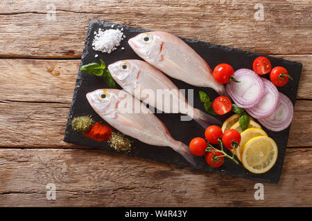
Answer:
[(250, 139), (243, 147), (241, 162), (252, 173), (266, 173), (277, 160), (277, 145), (272, 138), (259, 136)]

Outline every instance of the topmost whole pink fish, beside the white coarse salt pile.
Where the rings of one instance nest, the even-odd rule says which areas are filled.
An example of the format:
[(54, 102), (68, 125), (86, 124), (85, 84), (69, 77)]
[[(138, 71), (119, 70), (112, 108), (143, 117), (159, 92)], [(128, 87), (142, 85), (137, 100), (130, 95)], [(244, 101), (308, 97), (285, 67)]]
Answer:
[(129, 39), (131, 48), (166, 75), (194, 86), (213, 88), (225, 95), (223, 84), (212, 75), (207, 62), (182, 39), (168, 32), (144, 32)]

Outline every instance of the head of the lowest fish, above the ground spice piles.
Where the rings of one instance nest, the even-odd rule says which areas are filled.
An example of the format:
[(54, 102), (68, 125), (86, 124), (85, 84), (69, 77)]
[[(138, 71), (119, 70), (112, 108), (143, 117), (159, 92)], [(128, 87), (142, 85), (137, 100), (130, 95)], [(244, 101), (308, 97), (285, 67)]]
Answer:
[(87, 93), (86, 97), (98, 115), (112, 115), (119, 103), (118, 93), (116, 89), (98, 89)]

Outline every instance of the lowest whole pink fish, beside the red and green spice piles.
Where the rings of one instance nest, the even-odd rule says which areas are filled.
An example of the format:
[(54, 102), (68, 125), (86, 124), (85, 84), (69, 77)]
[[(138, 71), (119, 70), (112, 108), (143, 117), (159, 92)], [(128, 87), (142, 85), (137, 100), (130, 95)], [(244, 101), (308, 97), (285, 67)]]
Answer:
[(173, 139), (164, 123), (125, 90), (98, 89), (87, 93), (86, 97), (94, 111), (121, 133), (146, 144), (170, 146), (196, 165), (189, 146)]

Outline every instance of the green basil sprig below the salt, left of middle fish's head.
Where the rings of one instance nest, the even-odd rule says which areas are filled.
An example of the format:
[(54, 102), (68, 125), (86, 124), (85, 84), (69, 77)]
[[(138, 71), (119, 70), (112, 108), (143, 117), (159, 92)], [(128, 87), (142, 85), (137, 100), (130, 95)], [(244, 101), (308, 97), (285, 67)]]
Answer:
[(101, 64), (98, 64), (96, 62), (91, 64), (85, 64), (83, 66), (80, 66), (80, 70), (83, 73), (96, 75), (98, 77), (103, 77), (103, 80), (109, 86), (110, 88), (116, 88), (116, 84), (114, 79), (112, 78), (112, 75), (110, 75), (110, 71), (106, 69), (105, 62), (100, 59)]

